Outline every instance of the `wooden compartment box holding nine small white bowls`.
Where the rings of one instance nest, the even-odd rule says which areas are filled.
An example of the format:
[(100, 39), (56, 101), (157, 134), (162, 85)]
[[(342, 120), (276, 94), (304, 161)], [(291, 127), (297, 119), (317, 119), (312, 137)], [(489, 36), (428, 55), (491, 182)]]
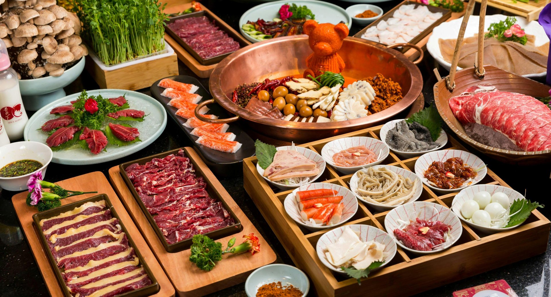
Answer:
[[(368, 136), (379, 139), (382, 126), (355, 131), (301, 146), (321, 152), (327, 142), (349, 136)], [(448, 136), (444, 149), (467, 151), (457, 140)], [(394, 153), (382, 164), (401, 167), (413, 171), (418, 157), (402, 160)], [(451, 248), (429, 255), (415, 255), (398, 246), (394, 259), (387, 266), (372, 272), (361, 285), (355, 279), (344, 277), (329, 270), (318, 259), (316, 243), (322, 234), (331, 232), (325, 229), (318, 232), (299, 227), (283, 207), (285, 197), (292, 190), (278, 192), (258, 174), (256, 157), (243, 162), (245, 190), (261, 211), (269, 226), (276, 233), (296, 266), (309, 274), (315, 285), (317, 296), (409, 296), (458, 281), (478, 273), (520, 261), (541, 254), (547, 250), (551, 222), (537, 210), (521, 226), (492, 235), (482, 234), (462, 223), (461, 238)], [(349, 188), (352, 174), (341, 175), (327, 166), (320, 182), (333, 183)], [(486, 177), (479, 184), (507, 185), (488, 168)], [(423, 193), (417, 201), (434, 202), (451, 207), (457, 193), (439, 195), (423, 185)], [(344, 225), (366, 224), (385, 230), (383, 227), (387, 212), (377, 213), (359, 201), (358, 212)], [(340, 225), (343, 226), (343, 225)], [(339, 226), (339, 227), (340, 227)]]

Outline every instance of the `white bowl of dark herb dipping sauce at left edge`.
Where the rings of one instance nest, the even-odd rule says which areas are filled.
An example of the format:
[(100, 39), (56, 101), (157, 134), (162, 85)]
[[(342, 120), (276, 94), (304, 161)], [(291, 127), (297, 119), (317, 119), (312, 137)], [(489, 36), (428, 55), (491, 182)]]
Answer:
[[(47, 145), (36, 141), (12, 142), (0, 147), (0, 168), (19, 160), (35, 160), (42, 163), (43, 166), (37, 171), (41, 171), (42, 177), (45, 177), (46, 168), (52, 161), (52, 150)], [(0, 187), (8, 191), (25, 190), (29, 177), (33, 173), (12, 178), (0, 177)]]

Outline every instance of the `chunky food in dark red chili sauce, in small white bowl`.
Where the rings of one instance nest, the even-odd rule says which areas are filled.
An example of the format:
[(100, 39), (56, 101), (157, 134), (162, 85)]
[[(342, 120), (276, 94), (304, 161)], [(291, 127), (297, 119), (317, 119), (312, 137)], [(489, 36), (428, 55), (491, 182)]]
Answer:
[(449, 158), (446, 162), (434, 161), (423, 174), (429, 183), (440, 189), (457, 189), (463, 183), (476, 177), (473, 168), (463, 164), (459, 157)]

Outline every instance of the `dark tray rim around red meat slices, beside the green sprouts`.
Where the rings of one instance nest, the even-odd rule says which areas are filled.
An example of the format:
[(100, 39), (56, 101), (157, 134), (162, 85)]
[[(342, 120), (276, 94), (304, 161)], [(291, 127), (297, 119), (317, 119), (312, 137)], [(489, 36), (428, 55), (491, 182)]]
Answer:
[(203, 16), (207, 17), (211, 21), (211, 23), (214, 23), (215, 26), (217, 26), (220, 30), (222, 30), (226, 34), (228, 34), (228, 36), (233, 38), (233, 40), (239, 42), (239, 45), (241, 47), (249, 45), (248, 43), (245, 43), (244, 41), (242, 41), (239, 36), (236, 36), (235, 32), (229, 30), (229, 28), (227, 27), (226, 24), (222, 24), (222, 23), (216, 21), (213, 18), (213, 15), (210, 12), (210, 10), (208, 12), (206, 10), (201, 10), (201, 11), (198, 11), (198, 12), (188, 13), (188, 14), (179, 15), (177, 17), (170, 18), (168, 21), (166, 21), (166, 25), (165, 25), (166, 33), (168, 33), (170, 35), (170, 37), (174, 38), (174, 40), (176, 42), (178, 42), (179, 45), (181, 45), (183, 48), (185, 48), (186, 51), (188, 53), (190, 53), (193, 56), (193, 58), (195, 58), (197, 60), (197, 62), (201, 63), (202, 65), (212, 65), (212, 64), (216, 64), (216, 63), (222, 61), (225, 57), (228, 57), (229, 54), (233, 53), (233, 52), (229, 52), (229, 53), (220, 54), (218, 56), (211, 57), (211, 58), (208, 58), (208, 59), (203, 59), (203, 58), (201, 58), (201, 56), (199, 56), (199, 54), (195, 50), (193, 50), (193, 48), (188, 46), (187, 43), (185, 41), (183, 41), (183, 39), (180, 36), (178, 36), (176, 34), (176, 32), (174, 32), (168, 26), (169, 24), (174, 23), (174, 21), (176, 21), (176, 20), (187, 19), (187, 18), (197, 18), (197, 17), (203, 17)]

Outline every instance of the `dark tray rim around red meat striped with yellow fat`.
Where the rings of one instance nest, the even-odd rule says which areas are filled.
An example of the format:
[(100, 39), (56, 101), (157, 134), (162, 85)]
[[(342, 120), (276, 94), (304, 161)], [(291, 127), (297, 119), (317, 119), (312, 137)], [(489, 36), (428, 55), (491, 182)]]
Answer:
[(62, 268), (57, 267), (57, 262), (53, 258), (52, 252), (50, 251), (50, 247), (48, 246), (48, 243), (47, 243), (47, 239), (42, 233), (42, 229), (40, 228), (40, 221), (42, 219), (58, 216), (62, 212), (72, 211), (74, 210), (74, 208), (79, 207), (85, 204), (86, 202), (98, 202), (101, 200), (105, 200), (105, 207), (111, 210), (111, 216), (118, 219), (118, 224), (121, 226), (122, 232), (124, 232), (126, 234), (126, 237), (128, 238), (128, 245), (134, 249), (134, 252), (136, 252), (136, 255), (138, 256), (138, 259), (139, 259), (139, 263), (143, 266), (145, 272), (147, 273), (149, 279), (151, 279), (151, 282), (152, 282), (152, 284), (148, 285), (147, 287), (122, 293), (122, 294), (116, 295), (116, 297), (145, 297), (145, 296), (156, 294), (160, 290), (159, 283), (155, 279), (155, 276), (149, 269), (149, 266), (147, 265), (147, 263), (143, 260), (142, 254), (139, 252), (139, 249), (137, 248), (136, 244), (134, 244), (134, 241), (130, 237), (130, 234), (128, 234), (125, 224), (122, 223), (121, 218), (117, 215), (117, 211), (111, 204), (109, 197), (107, 197), (106, 194), (100, 194), (100, 195), (90, 197), (88, 199), (84, 199), (84, 200), (73, 202), (60, 207), (52, 208), (51, 210), (37, 212), (33, 215), (33, 221), (34, 221), (37, 235), (40, 238), (40, 241), (42, 243), (42, 248), (44, 248), (44, 252), (48, 257), (48, 260), (50, 260), (50, 265), (52, 266), (53, 272), (56, 274), (57, 282), (60, 284), (60, 288), (63, 291), (63, 295), (66, 297), (73, 296), (71, 292), (69, 292), (69, 288), (63, 281), (63, 276), (61, 274)]

